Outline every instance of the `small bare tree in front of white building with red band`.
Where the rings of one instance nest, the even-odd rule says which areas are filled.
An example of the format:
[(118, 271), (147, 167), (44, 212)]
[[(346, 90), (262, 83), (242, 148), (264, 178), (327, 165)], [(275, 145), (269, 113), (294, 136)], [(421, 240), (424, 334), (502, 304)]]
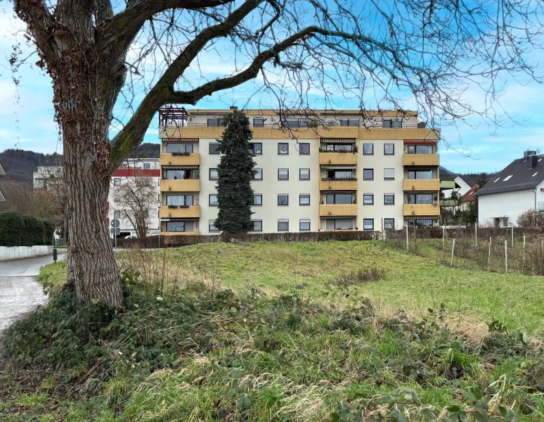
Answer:
[(121, 186), (114, 189), (113, 197), (121, 208), (121, 217), (129, 220), (140, 238), (147, 235), (158, 194), (155, 178), (138, 175), (138, 169), (134, 169), (134, 177), (127, 177)]

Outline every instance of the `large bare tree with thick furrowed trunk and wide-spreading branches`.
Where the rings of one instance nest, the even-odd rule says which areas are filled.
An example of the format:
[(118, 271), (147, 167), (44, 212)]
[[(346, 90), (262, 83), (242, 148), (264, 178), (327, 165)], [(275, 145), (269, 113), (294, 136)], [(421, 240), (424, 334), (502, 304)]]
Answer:
[[(122, 295), (104, 219), (110, 174), (160, 106), (195, 105), (255, 79), (248, 97), (276, 101), (280, 113), (311, 113), (316, 101), (334, 109), (337, 96), (361, 110), (402, 112), (411, 102), (434, 127), (474, 113), (500, 122), (504, 77), (540, 82), (532, 56), (541, 45), (540, 1), (13, 2), (53, 82), (68, 281), (81, 300), (115, 306)], [(208, 80), (200, 69), (210, 64), (226, 74)], [(485, 94), (481, 108), (468, 101), (469, 89)]]

